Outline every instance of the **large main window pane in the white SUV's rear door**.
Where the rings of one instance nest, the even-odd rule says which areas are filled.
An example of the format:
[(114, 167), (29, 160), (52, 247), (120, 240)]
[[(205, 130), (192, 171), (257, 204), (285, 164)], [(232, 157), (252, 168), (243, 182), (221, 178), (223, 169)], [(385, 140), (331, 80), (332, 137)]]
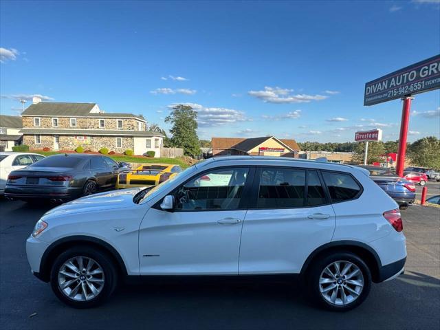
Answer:
[(257, 208), (304, 206), (305, 170), (262, 168)]

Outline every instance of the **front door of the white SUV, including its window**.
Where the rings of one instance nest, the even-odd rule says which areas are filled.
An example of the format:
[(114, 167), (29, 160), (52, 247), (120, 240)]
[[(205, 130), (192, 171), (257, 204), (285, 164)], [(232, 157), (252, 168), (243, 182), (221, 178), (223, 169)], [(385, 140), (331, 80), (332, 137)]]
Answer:
[[(229, 179), (211, 179), (219, 175)], [(168, 193), (172, 212), (150, 208), (140, 225), (140, 273), (238, 274), (252, 175), (249, 167), (208, 170)]]

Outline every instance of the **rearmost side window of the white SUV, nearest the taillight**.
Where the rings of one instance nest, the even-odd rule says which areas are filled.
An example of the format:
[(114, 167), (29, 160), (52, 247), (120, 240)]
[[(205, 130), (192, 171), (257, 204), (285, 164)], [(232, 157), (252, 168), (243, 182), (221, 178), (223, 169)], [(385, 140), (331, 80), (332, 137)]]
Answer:
[(322, 172), (325, 184), (329, 188), (331, 201), (347, 201), (353, 199), (360, 192), (360, 186), (351, 177), (343, 173)]

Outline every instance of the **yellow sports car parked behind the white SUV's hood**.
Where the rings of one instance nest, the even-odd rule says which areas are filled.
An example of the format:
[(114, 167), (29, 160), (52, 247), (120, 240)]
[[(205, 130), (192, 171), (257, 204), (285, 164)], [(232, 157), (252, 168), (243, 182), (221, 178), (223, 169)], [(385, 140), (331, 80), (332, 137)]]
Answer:
[(135, 170), (120, 173), (116, 181), (116, 189), (157, 186), (180, 172), (179, 165), (143, 164)]

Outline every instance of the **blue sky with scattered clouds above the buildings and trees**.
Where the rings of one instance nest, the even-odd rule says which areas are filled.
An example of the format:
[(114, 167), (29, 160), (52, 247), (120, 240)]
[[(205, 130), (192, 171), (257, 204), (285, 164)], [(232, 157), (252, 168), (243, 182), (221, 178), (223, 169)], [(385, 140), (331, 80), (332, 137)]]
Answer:
[[(0, 21), (2, 114), (39, 94), (169, 128), (190, 103), (205, 139), (396, 140), (401, 101), (364, 107), (364, 84), (440, 52), (439, 0), (1, 1)], [(412, 111), (409, 140), (440, 137), (439, 90)]]

